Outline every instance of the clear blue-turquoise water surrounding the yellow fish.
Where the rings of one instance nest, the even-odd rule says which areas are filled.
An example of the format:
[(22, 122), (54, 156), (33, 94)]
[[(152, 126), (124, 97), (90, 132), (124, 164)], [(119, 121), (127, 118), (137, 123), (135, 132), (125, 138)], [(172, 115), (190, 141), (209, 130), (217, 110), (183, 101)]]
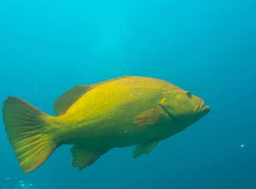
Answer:
[(255, 23), (254, 0), (1, 1), (1, 103), (53, 116), (73, 86), (132, 75), (190, 90), (211, 112), (137, 159), (112, 149), (79, 171), (65, 145), (24, 174), (1, 111), (0, 188), (256, 188)]

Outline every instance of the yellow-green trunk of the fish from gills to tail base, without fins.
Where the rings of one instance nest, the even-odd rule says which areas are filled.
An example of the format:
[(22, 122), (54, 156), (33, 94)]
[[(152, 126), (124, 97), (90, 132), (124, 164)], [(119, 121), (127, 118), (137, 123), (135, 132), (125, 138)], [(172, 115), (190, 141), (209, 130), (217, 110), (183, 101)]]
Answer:
[[(143, 112), (152, 109), (162, 111), (159, 106), (163, 98), (161, 91), (170, 87), (170, 84), (159, 79), (125, 77), (99, 85), (57, 117), (63, 123), (61, 128), (65, 130), (61, 132), (61, 138), (67, 139), (68, 144), (114, 148), (170, 137), (168, 135), (182, 130), (184, 125), (165, 113), (163, 124), (175, 122), (173, 125), (176, 127), (164, 127), (163, 124), (143, 127), (134, 124), (134, 118)], [(62, 135), (64, 133), (65, 137)]]

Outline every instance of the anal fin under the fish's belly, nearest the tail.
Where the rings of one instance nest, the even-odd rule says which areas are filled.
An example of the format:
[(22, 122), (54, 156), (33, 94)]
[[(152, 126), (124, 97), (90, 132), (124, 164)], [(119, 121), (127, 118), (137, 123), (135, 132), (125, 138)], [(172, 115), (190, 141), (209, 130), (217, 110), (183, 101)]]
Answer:
[(87, 165), (93, 164), (100, 156), (107, 151), (92, 151), (87, 150), (83, 146), (75, 145), (71, 148), (73, 162), (72, 166), (84, 169)]

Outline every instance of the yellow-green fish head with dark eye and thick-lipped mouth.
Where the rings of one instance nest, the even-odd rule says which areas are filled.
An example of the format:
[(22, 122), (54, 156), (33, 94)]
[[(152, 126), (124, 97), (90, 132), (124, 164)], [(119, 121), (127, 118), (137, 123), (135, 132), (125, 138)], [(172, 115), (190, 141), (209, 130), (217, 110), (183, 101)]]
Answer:
[(185, 127), (210, 111), (210, 107), (204, 105), (203, 99), (178, 87), (163, 91), (163, 98), (159, 104), (170, 117), (179, 120)]

